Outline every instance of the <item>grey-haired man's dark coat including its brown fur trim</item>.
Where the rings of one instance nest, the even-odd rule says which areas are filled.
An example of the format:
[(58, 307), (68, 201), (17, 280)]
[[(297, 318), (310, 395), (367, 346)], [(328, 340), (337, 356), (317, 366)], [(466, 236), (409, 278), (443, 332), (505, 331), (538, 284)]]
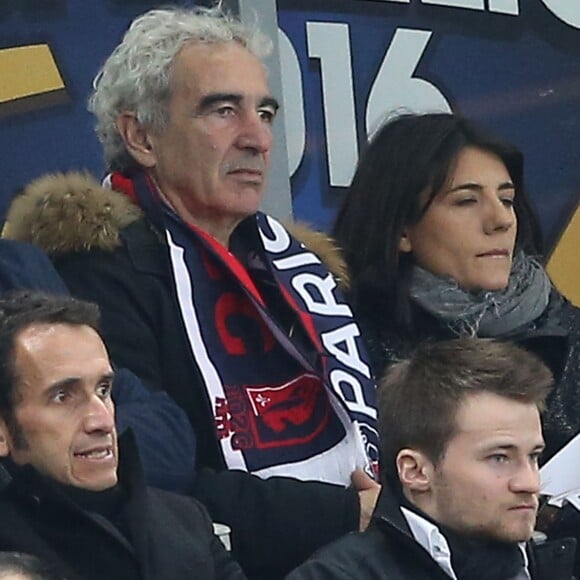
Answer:
[[(311, 234), (301, 233), (312, 246), (312, 239), (304, 240)], [(40, 245), (72, 294), (101, 306), (113, 359), (186, 410), (197, 434), (196, 495), (215, 521), (232, 527), (234, 555), (248, 575), (273, 580), (358, 528), (353, 489), (224, 470), (213, 412), (171, 290), (166, 249), (127, 198), (86, 175), (49, 176), (15, 200), (5, 235)], [(336, 250), (326, 246), (321, 257), (334, 260), (340, 273)]]

